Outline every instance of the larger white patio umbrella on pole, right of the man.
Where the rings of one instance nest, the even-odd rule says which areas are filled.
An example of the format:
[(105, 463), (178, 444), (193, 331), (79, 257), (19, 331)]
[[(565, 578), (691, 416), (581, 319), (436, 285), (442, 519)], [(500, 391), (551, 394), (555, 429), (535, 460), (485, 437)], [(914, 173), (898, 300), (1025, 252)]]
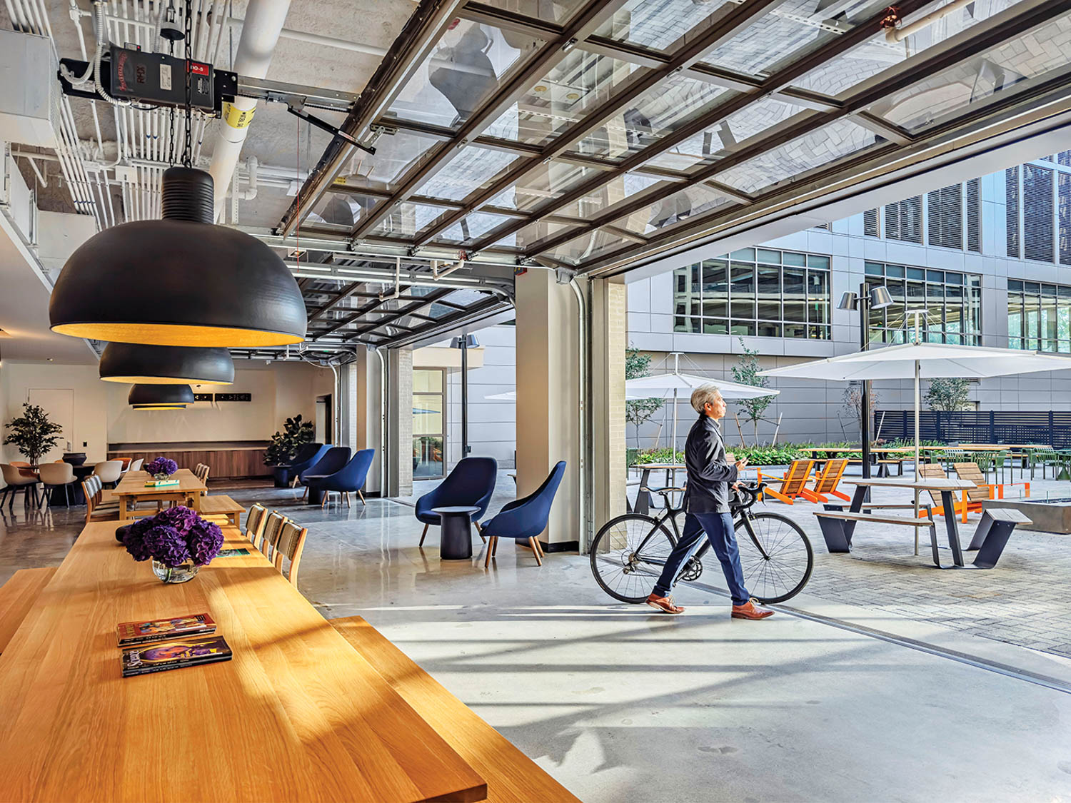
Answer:
[(939, 343), (921, 343), (918, 319), (924, 310), (912, 310), (916, 316), (915, 343), (886, 346), (869, 351), (812, 360), (759, 372), (767, 377), (799, 377), (836, 381), (868, 379), (915, 378), (915, 479), (919, 478), (919, 410), (922, 407), (920, 380), (937, 377), (998, 377), (1010, 374), (1029, 374), (1039, 370), (1071, 369), (1071, 358), (1044, 354), (1020, 349), (985, 348), (980, 346), (948, 346)]

